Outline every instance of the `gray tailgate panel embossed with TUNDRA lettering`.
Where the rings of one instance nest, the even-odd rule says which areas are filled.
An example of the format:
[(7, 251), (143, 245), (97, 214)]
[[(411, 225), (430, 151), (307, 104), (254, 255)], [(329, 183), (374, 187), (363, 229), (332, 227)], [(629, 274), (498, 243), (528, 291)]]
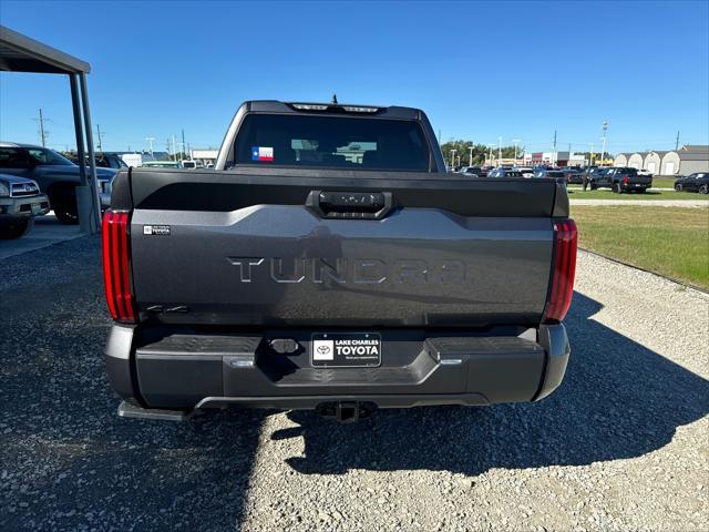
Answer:
[[(554, 182), (359, 174), (132, 171), (141, 315), (233, 326), (538, 324)], [(309, 204), (314, 191), (386, 193), (391, 208), (332, 218)]]

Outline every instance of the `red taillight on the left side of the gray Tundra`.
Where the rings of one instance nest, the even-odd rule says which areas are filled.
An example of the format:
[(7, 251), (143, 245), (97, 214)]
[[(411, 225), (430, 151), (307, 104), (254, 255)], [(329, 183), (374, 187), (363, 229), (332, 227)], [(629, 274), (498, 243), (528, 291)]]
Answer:
[(101, 239), (103, 248), (103, 285), (106, 289), (106, 304), (116, 321), (134, 324), (135, 307), (131, 294), (129, 257), (129, 213), (106, 211), (103, 215)]

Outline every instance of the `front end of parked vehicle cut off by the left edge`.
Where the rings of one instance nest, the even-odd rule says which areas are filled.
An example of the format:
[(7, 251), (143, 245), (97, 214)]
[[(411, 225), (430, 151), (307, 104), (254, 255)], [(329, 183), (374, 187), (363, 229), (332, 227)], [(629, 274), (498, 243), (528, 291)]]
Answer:
[(18, 238), (34, 225), (34, 216), (49, 212), (49, 198), (27, 177), (0, 174), (0, 238)]

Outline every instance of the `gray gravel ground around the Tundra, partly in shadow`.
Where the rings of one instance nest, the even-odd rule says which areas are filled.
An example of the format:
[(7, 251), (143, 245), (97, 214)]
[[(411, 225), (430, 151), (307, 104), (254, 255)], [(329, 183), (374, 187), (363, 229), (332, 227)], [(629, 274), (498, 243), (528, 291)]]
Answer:
[(540, 403), (173, 424), (115, 416), (97, 259), (86, 237), (0, 260), (2, 531), (709, 528), (706, 294), (580, 253)]

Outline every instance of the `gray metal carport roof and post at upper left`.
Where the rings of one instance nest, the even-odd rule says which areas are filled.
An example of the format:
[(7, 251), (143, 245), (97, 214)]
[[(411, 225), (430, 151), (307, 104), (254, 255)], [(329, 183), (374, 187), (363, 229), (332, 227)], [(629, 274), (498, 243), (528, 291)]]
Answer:
[[(74, 130), (76, 133), (79, 174), (81, 176), (81, 185), (76, 187), (79, 224), (82, 232), (97, 232), (101, 227), (101, 202), (96, 185), (91, 114), (86, 93), (86, 74), (91, 72), (91, 65), (85, 61), (0, 25), (0, 71), (69, 75)], [(85, 162), (86, 147), (89, 152), (89, 168), (86, 168)]]

